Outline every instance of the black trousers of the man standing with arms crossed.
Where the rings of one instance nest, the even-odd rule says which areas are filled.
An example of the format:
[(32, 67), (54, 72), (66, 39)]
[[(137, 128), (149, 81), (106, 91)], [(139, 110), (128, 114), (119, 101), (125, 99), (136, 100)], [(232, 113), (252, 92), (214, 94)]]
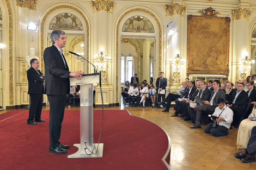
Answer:
[(29, 114), (27, 121), (40, 120), (42, 111), (42, 93), (29, 94), (31, 97), (31, 105), (29, 106)]

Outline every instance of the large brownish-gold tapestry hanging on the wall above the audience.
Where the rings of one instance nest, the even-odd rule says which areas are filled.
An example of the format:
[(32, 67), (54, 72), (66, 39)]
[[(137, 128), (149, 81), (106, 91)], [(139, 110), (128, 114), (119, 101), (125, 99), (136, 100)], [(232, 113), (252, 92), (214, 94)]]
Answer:
[(229, 75), (229, 17), (187, 17), (187, 74)]

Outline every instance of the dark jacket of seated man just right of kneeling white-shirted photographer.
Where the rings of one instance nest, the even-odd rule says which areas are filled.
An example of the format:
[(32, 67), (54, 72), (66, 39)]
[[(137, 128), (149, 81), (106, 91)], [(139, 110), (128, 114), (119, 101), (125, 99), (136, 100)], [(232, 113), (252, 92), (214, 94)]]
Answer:
[(228, 104), (232, 104), (232, 106), (239, 106), (239, 109), (246, 109), (248, 93), (242, 90), (237, 96), (235, 103), (233, 104), (233, 100), (235, 99), (236, 92), (233, 93), (231, 99), (228, 101)]

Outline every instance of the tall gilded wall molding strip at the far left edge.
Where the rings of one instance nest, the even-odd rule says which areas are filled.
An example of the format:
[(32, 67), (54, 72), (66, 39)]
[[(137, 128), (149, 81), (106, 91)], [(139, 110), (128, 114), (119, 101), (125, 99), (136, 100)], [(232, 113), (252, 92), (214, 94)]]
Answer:
[(9, 0), (5, 0), (9, 16), (9, 104), (14, 104), (14, 87), (13, 87), (13, 11)]

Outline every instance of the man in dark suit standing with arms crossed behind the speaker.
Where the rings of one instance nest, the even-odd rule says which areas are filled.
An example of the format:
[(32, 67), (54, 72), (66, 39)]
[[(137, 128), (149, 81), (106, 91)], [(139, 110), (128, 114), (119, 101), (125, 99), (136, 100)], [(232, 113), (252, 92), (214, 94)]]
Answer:
[[(38, 70), (38, 59), (30, 60), (31, 67), (28, 68), (28, 94), (31, 97), (31, 105), (29, 107), (29, 115), (27, 124), (37, 124), (35, 122), (45, 122), (41, 119), (42, 111), (42, 94), (44, 93), (44, 74)], [(34, 120), (35, 118), (35, 120)]]

